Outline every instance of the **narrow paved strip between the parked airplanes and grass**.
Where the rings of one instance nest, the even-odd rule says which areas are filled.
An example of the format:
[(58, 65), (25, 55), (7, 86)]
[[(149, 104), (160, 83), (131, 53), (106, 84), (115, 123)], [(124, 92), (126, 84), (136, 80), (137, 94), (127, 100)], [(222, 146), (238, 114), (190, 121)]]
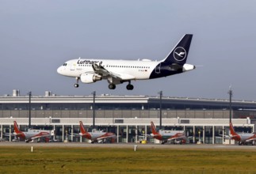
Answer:
[(136, 144), (136, 143), (113, 143), (113, 144), (90, 144), (86, 142), (0, 142), (0, 147), (78, 147), (78, 148), (131, 148), (137, 149), (250, 149), (256, 151), (256, 146), (238, 146), (238, 145), (161, 145), (161, 144)]

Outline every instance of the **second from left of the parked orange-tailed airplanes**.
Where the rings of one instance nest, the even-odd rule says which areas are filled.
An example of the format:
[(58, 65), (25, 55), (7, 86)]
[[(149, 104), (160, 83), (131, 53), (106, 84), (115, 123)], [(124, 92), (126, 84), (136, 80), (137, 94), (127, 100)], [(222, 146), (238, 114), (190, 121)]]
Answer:
[(85, 127), (83, 126), (82, 121), (80, 121), (79, 123), (80, 123), (79, 135), (82, 136), (83, 138), (89, 139), (91, 143), (102, 142), (105, 139), (117, 138), (116, 134), (113, 134), (112, 132), (97, 131), (96, 129), (93, 129), (91, 132), (87, 132)]

